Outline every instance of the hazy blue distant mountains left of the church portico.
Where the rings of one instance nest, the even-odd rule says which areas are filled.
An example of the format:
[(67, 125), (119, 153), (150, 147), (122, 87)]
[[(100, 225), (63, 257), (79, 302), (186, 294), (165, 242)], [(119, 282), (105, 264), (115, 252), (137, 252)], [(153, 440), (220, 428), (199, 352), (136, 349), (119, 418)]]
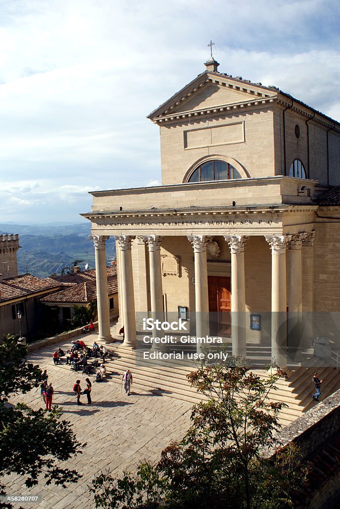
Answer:
[[(18, 273), (29, 272), (38, 277), (60, 274), (65, 267), (71, 267), (75, 260), (81, 269), (88, 264), (95, 268), (95, 248), (88, 238), (90, 223), (48, 225), (23, 225), (0, 223), (0, 234), (19, 234)], [(110, 237), (106, 242), (107, 263), (115, 258), (115, 242)]]

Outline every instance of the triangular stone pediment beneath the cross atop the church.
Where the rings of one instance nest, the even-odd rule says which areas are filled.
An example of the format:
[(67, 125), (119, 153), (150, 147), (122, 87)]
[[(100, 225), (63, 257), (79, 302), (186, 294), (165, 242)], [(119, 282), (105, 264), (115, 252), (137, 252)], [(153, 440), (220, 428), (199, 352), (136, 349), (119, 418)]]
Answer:
[(277, 93), (278, 89), (271, 90), (262, 87), (260, 83), (206, 71), (152, 111), (148, 118), (156, 120), (183, 112), (256, 102), (259, 99), (275, 97)]

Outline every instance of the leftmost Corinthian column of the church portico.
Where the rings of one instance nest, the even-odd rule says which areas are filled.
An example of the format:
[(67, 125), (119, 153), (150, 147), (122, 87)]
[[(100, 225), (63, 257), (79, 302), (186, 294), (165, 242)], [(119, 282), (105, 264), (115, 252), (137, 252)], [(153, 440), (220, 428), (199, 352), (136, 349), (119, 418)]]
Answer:
[(107, 270), (105, 256), (105, 242), (109, 237), (106, 235), (94, 235), (90, 237), (95, 245), (96, 260), (96, 286), (97, 286), (97, 307), (98, 307), (98, 340), (112, 341), (110, 331), (110, 308), (107, 287)]

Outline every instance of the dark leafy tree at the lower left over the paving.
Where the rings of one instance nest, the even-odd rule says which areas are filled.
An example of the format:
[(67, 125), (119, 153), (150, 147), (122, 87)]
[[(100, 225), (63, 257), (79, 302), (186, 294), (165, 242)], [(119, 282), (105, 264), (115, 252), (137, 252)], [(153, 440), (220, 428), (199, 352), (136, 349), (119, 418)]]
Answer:
[[(39, 387), (42, 381), (40, 367), (26, 362), (26, 353), (14, 336), (6, 336), (0, 345), (0, 475), (24, 476), (27, 487), (42, 481), (66, 487), (81, 477), (76, 470), (59, 466), (81, 453), (69, 422), (61, 420), (55, 407), (46, 414), (42, 408), (11, 403), (14, 395)], [(0, 485), (1, 494), (4, 488)], [(10, 506), (0, 502), (0, 507)]]

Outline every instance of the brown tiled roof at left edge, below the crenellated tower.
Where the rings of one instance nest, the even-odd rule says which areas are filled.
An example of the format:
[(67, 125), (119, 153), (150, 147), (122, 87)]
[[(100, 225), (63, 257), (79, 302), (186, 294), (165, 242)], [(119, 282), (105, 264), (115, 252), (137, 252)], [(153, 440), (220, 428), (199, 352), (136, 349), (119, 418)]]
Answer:
[(0, 302), (39, 294), (40, 292), (60, 288), (60, 286), (60, 283), (50, 277), (40, 279), (31, 274), (8, 277), (0, 281)]

